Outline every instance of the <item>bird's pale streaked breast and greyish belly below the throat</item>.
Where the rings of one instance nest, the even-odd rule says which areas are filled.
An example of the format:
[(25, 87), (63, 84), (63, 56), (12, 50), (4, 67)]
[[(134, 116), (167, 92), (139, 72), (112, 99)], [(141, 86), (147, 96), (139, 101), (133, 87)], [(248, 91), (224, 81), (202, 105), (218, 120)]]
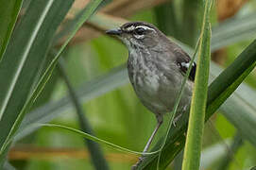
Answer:
[[(135, 93), (148, 110), (163, 114), (173, 110), (182, 76), (168, 69), (160, 70), (154, 62), (129, 56), (128, 76)], [(146, 63), (146, 64), (145, 64)], [(179, 72), (178, 72), (179, 73)], [(173, 74), (173, 75), (172, 75)], [(190, 103), (191, 86), (187, 83), (179, 102), (179, 110)]]

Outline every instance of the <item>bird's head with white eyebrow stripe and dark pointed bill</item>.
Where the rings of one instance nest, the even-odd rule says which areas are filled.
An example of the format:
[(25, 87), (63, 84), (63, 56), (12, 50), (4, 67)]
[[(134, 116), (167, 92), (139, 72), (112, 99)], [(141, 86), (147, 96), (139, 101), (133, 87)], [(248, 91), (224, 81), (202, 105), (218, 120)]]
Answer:
[[(131, 22), (106, 32), (115, 35), (130, 48), (152, 48), (165, 39), (162, 32), (145, 22)], [(166, 40), (164, 40), (166, 41)]]

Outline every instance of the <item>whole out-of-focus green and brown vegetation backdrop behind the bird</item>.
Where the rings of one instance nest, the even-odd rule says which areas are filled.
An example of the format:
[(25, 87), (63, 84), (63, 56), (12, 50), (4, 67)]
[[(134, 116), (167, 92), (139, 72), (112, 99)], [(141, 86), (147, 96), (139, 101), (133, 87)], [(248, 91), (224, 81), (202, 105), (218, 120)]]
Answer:
[[(39, 4), (36, 5), (37, 3)], [(20, 105), (20, 100), (27, 101), (31, 96), (40, 77), (45, 73), (49, 60), (56, 56), (60, 46), (65, 44), (72, 32), (78, 28), (75, 23), (80, 21), (78, 19), (81, 16), (80, 11), (85, 7), (89, 11), (88, 4), (88, 0), (68, 0), (62, 4), (58, 0), (52, 0), (51, 8), (47, 13), (49, 19), (39, 30), (27, 55), (31, 58), (27, 57), (27, 66), (24, 66), (24, 72), (29, 73), (33, 70), (33, 68), (29, 70), (29, 66), (39, 64), (34, 68), (35, 74), (29, 76), (34, 79), (30, 81), (31, 78), (26, 79), (28, 74), (22, 77), (23, 73), (21, 73), (15, 85), (17, 90), (13, 90), (13, 99), (9, 100), (14, 103), (13, 106), (16, 106), (16, 103), (18, 103), (17, 106)], [(31, 31), (29, 27), (37, 23), (36, 16), (41, 12), (40, 8), (44, 7), (43, 5), (45, 8), (48, 7), (47, 3), (44, 4), (40, 0), (34, 2), (0, 0), (0, 9), (2, 8), (0, 21), (9, 20), (15, 23), (15, 12), (18, 16), (15, 26), (12, 25), (14, 26), (12, 32), (6, 31), (11, 30), (11, 28), (5, 29), (6, 25), (0, 26), (2, 35), (6, 33), (5, 35), (10, 36), (10, 39), (9, 36), (7, 39), (2, 39), (4, 36), (1, 35), (1, 42), (9, 40), (6, 44), (10, 47), (8, 46), (5, 51), (3, 50), (5, 43), (2, 43), (0, 48), (0, 59), (2, 59), (0, 61), (0, 72), (2, 71), (0, 95), (6, 90), (6, 79), (9, 82), (8, 79), (11, 77), (9, 76), (11, 72), (3, 72), (8, 69), (1, 64), (4, 65), (4, 62), (8, 62), (7, 58), (15, 56), (11, 51), (22, 48), (23, 42), (26, 42), (26, 37)], [(12, 7), (13, 10), (8, 7)], [(42, 9), (42, 13), (45, 8)], [(13, 13), (5, 13), (7, 10)], [(90, 11), (92, 13), (93, 10)], [(195, 48), (200, 33), (202, 13), (202, 3), (198, 0), (103, 1), (97, 7), (94, 16), (79, 28), (75, 37), (68, 43), (43, 92), (33, 107), (25, 111), (26, 116), (21, 127), (13, 137), (15, 143), (9, 149), (8, 161), (4, 159), (4, 168), (18, 170), (130, 169), (138, 156), (120, 152), (106, 144), (97, 145), (85, 141), (76, 133), (67, 132), (61, 128), (35, 127), (34, 123), (53, 123), (87, 132), (94, 131), (94, 135), (100, 139), (131, 150), (142, 151), (155, 127), (156, 120), (154, 114), (140, 103), (128, 83), (124, 65), (128, 59), (127, 48), (121, 42), (105, 35), (104, 31), (128, 21), (145, 21), (158, 26), (166, 35), (178, 40), (181, 45), (186, 44), (186, 48)], [(12, 19), (9, 19), (11, 18), (9, 16), (12, 16)], [(64, 16), (65, 19), (63, 19)], [(54, 22), (56, 20), (59, 23)], [(212, 60), (219, 65), (216, 66), (213, 63), (211, 73), (212, 76), (217, 76), (222, 71), (221, 68), (228, 67), (256, 38), (256, 1), (217, 0), (213, 3), (211, 22), (213, 26)], [(11, 22), (9, 26), (11, 27)], [(57, 27), (57, 33), (54, 34)], [(45, 47), (44, 43), (47, 43)], [(38, 59), (42, 54), (42, 61), (33, 60), (35, 59), (33, 56), (37, 54)], [(19, 63), (19, 61), (15, 62), (15, 59), (10, 59), (8, 68), (15, 71)], [(22, 83), (30, 85), (25, 86), (27, 94), (24, 99), (22, 98), (25, 95), (18, 93), (23, 91)], [(254, 70), (247, 76), (242, 87), (206, 123), (202, 169), (246, 170), (256, 166), (255, 88), (256, 72)], [(8, 109), (3, 109), (4, 100), (1, 100), (1, 97), (0, 131), (4, 134), (8, 129), (6, 125), (12, 123), (9, 121), (11, 118), (8, 116), (10, 115)], [(11, 108), (11, 105), (8, 107)], [(19, 113), (22, 110), (16, 110), (16, 112)], [(17, 119), (16, 116), (14, 120)], [(161, 128), (155, 144), (165, 134), (166, 126)], [(95, 154), (93, 161), (90, 159), (92, 152)], [(182, 157), (179, 154), (172, 163), (168, 162), (166, 169), (179, 170), (180, 161)]]

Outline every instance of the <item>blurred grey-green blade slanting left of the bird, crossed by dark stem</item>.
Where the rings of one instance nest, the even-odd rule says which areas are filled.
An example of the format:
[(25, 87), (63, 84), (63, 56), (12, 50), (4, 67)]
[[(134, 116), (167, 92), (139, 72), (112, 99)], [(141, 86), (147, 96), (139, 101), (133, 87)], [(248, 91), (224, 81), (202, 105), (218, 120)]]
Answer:
[[(88, 102), (97, 96), (108, 93), (117, 87), (128, 83), (128, 72), (125, 65), (113, 69), (110, 73), (98, 76), (90, 82), (86, 82), (77, 90), (77, 97), (82, 103)], [(34, 131), (35, 127), (29, 125), (34, 123), (46, 123), (62, 114), (64, 111), (71, 109), (71, 101), (69, 97), (64, 97), (60, 101), (52, 102), (43, 107), (31, 111), (27, 114), (25, 120), (15, 136), (15, 141), (23, 138), (27, 134)]]

